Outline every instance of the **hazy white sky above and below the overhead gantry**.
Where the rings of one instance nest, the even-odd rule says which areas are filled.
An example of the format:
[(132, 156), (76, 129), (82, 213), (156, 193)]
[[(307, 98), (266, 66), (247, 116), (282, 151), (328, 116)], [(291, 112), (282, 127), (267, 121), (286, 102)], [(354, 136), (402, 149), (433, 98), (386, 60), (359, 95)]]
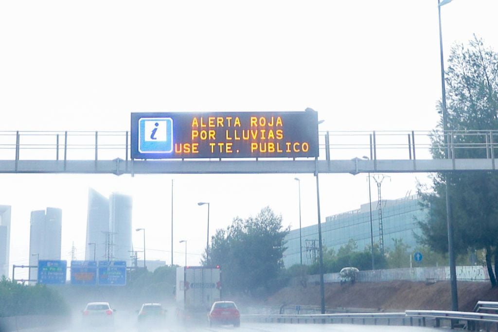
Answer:
[[(442, 12), (446, 55), (473, 33), (498, 49), (496, 0), (455, 0)], [(439, 66), (437, 0), (0, 2), (0, 130), (129, 130), (131, 111), (307, 107), (323, 130), (429, 130)], [(426, 181), (391, 175), (384, 198), (413, 193), (415, 176)], [(197, 264), (207, 218), (197, 202), (211, 203), (211, 234), (267, 205), (295, 228), (294, 177), (1, 174), (10, 264), (27, 263), (30, 212), (47, 206), (63, 210), (63, 259), (73, 241), (83, 258), (89, 187), (132, 195), (147, 258), (169, 264), (172, 178), (175, 263), (187, 239)], [(303, 225), (314, 224), (315, 181), (300, 178)], [(320, 188), (323, 220), (368, 201), (364, 175), (322, 175)]]

